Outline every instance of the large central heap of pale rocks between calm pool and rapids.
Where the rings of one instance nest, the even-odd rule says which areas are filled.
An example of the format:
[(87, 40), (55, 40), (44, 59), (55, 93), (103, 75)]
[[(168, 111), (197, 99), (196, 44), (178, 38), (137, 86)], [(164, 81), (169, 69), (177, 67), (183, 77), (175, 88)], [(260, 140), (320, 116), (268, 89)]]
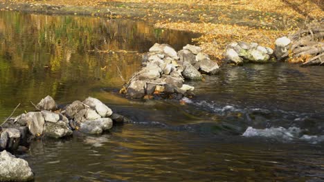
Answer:
[(215, 74), (219, 66), (201, 48), (186, 45), (176, 52), (168, 44), (155, 43), (143, 55), (143, 68), (125, 85), (131, 98), (153, 97), (181, 99), (192, 95), (195, 88), (183, 84), (185, 79), (201, 80), (204, 74)]

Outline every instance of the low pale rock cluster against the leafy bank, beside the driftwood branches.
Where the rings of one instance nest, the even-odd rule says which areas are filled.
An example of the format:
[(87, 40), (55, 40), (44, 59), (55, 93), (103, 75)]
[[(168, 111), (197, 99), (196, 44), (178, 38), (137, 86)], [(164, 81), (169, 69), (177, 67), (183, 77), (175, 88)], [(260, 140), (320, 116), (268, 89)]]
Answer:
[(243, 63), (268, 63), (273, 50), (264, 48), (258, 43), (232, 42), (226, 46), (225, 61), (237, 65)]

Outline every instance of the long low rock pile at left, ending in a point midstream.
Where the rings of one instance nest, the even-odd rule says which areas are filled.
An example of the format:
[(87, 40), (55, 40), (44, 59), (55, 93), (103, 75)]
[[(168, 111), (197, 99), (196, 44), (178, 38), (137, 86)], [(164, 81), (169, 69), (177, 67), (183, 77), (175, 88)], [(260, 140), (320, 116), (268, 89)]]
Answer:
[[(71, 136), (73, 130), (87, 134), (101, 134), (112, 128), (113, 123), (123, 123), (127, 118), (113, 113), (98, 99), (88, 97), (83, 102), (74, 101), (64, 110), (55, 110), (57, 105), (50, 96), (40, 101), (37, 112), (21, 114), (1, 126), (0, 150), (17, 150), (37, 136), (62, 138)], [(46, 109), (46, 110), (44, 110)]]

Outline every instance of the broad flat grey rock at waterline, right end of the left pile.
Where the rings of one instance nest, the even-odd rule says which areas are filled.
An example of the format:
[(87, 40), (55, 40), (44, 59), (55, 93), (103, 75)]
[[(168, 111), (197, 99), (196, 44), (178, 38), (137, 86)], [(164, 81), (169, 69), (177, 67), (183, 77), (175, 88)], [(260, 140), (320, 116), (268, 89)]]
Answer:
[(112, 128), (113, 121), (110, 118), (100, 118), (87, 120), (80, 124), (80, 132), (88, 134), (101, 134), (105, 130)]

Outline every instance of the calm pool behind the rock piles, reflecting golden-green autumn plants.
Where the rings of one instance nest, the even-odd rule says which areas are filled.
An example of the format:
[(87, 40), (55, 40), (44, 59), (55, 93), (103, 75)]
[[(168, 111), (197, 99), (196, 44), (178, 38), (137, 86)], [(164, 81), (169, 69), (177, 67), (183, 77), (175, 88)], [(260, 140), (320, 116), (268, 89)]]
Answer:
[(180, 49), (195, 36), (142, 21), (0, 12), (0, 118), (19, 102), (17, 112), (30, 110), (29, 101), (46, 94), (69, 102), (92, 88), (120, 88), (118, 68), (131, 77), (154, 43)]

